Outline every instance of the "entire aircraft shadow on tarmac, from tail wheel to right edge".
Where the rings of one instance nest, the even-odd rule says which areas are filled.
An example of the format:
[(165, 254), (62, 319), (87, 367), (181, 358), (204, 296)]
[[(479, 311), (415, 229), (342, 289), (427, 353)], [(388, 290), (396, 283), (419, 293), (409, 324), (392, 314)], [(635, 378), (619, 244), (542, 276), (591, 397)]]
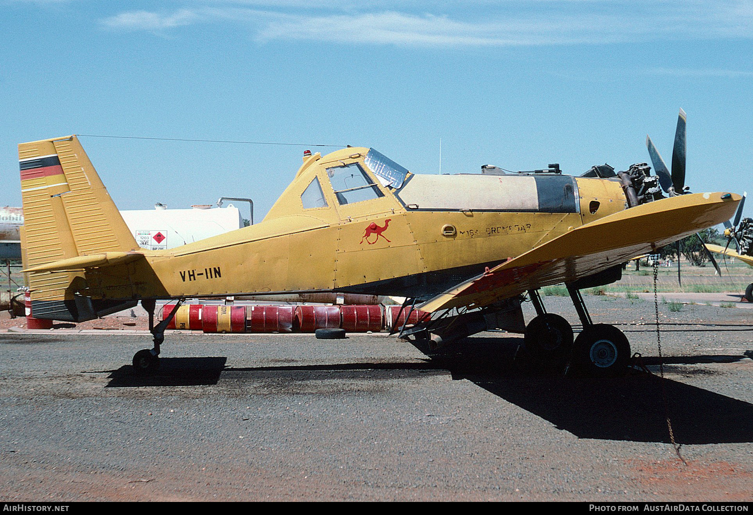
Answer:
[[(739, 401), (672, 379), (645, 372), (593, 379), (561, 371), (520, 367), (514, 359), (522, 338), (469, 338), (451, 352), (428, 354), (421, 362), (280, 365), (225, 367), (227, 358), (160, 358), (160, 369), (151, 376), (133, 373), (130, 365), (114, 370), (108, 388), (137, 386), (216, 385), (228, 379), (389, 379), (426, 373), (450, 373), (453, 379), (468, 379), (480, 388), (534, 413), (559, 429), (581, 438), (669, 442), (665, 403), (677, 443), (753, 442), (753, 404)], [(420, 349), (425, 351), (426, 349)], [(753, 358), (740, 355), (680, 356), (663, 359), (665, 370), (689, 376), (712, 376), (712, 368), (682, 367), (686, 364), (733, 363)], [(656, 367), (658, 358), (644, 357)], [(664, 392), (664, 393), (663, 393)]]

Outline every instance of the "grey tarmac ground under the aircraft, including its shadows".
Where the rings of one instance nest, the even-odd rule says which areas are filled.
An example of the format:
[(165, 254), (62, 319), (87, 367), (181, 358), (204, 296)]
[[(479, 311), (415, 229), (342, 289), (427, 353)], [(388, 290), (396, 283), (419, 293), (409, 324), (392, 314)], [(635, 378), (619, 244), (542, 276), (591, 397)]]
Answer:
[(442, 355), (383, 334), (172, 333), (144, 377), (142, 332), (0, 334), (0, 497), (753, 500), (751, 312), (660, 301), (662, 379), (654, 303), (586, 302), (651, 373), (529, 367), (520, 335), (493, 332)]

